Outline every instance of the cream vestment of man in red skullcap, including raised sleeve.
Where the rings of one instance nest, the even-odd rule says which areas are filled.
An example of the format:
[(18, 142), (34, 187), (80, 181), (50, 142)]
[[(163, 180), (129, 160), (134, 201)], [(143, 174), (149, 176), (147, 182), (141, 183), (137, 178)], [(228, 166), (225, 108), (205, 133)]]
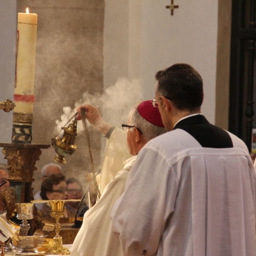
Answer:
[(99, 201), (85, 212), (83, 224), (72, 245), (71, 256), (123, 256), (120, 241), (111, 231), (110, 214), (114, 203), (125, 190), (126, 178), (137, 158), (133, 156), (120, 163), (129, 156), (125, 144), (126, 132), (115, 128), (107, 145), (110, 152), (105, 153), (107, 163), (103, 163), (105, 189)]

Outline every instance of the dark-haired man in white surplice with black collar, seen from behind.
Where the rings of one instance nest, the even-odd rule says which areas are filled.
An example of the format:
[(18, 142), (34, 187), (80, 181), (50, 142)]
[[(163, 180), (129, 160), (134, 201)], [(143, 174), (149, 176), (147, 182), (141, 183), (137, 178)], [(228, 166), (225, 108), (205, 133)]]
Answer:
[(166, 134), (149, 141), (111, 213), (125, 256), (255, 256), (256, 174), (246, 145), (201, 115), (188, 64), (156, 75)]

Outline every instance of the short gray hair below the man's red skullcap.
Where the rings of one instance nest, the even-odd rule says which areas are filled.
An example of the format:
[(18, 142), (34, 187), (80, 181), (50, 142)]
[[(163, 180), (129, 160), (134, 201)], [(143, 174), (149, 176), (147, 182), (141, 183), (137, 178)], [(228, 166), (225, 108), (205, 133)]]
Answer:
[(138, 112), (138, 106), (142, 101), (137, 102), (132, 108), (129, 113), (130, 117), (130, 125), (135, 126), (136, 128), (140, 129), (142, 132), (142, 136), (146, 142), (155, 137), (164, 134), (167, 130), (164, 127), (160, 127), (157, 125), (153, 125), (147, 120), (145, 120), (140, 113)]

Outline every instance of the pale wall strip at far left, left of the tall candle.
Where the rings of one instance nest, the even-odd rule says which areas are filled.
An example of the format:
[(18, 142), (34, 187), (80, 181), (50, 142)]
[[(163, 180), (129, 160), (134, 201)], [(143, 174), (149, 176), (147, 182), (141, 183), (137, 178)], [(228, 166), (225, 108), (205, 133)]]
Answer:
[[(15, 83), (15, 54), (16, 54), (16, 1), (0, 1), (0, 101), (9, 98), (13, 100)], [(12, 115), (0, 110), (0, 143), (11, 143)], [(0, 163), (4, 155), (0, 148)]]

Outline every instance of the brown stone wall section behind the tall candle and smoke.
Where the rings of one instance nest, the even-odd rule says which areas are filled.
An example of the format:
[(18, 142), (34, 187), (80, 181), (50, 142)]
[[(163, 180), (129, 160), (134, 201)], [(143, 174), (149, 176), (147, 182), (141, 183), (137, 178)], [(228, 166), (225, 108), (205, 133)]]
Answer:
[[(33, 144), (50, 144), (56, 135), (55, 120), (64, 106), (75, 107), (85, 91), (103, 92), (104, 0), (19, 0), (17, 12), (38, 14), (35, 64)], [(101, 134), (90, 129), (95, 169), (100, 168)], [(67, 178), (84, 181), (90, 159), (84, 135), (77, 137), (78, 150), (67, 157)], [(43, 149), (36, 163), (35, 192), (40, 189), (41, 167), (54, 162), (53, 148)], [(84, 182), (83, 182), (84, 184)]]

